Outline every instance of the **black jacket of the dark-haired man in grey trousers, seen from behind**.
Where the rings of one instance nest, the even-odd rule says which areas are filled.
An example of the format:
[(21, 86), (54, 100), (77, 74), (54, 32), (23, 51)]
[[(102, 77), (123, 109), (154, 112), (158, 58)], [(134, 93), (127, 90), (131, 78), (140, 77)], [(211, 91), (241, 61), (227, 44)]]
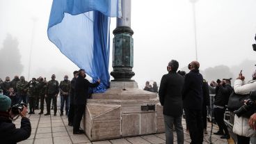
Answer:
[(184, 77), (176, 72), (163, 75), (159, 88), (159, 100), (163, 114), (174, 117), (182, 115), (182, 86)]

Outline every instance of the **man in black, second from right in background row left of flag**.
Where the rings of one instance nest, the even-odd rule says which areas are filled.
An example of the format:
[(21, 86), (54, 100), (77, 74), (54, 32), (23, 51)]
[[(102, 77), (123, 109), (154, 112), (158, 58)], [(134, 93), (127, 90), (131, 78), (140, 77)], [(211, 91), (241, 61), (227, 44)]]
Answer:
[(54, 115), (57, 113), (57, 97), (58, 97), (58, 81), (55, 80), (55, 74), (51, 75), (51, 81), (48, 81), (46, 87), (46, 106), (47, 106), (47, 113), (45, 115), (51, 114), (51, 99), (54, 102)]

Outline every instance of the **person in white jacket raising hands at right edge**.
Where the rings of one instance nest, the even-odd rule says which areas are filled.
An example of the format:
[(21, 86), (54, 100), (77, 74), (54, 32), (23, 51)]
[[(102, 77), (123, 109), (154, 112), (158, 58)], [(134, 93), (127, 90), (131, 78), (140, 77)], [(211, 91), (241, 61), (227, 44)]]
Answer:
[[(253, 72), (253, 80), (245, 83), (243, 75), (240, 73), (236, 81), (234, 81), (234, 93), (246, 95), (252, 90), (256, 90), (256, 71)], [(237, 144), (249, 144), (250, 137), (256, 136), (255, 129), (256, 113), (250, 116), (250, 120), (244, 117), (234, 115), (233, 132), (237, 134)], [(250, 125), (249, 125), (250, 124)], [(252, 128), (251, 128), (252, 127)]]

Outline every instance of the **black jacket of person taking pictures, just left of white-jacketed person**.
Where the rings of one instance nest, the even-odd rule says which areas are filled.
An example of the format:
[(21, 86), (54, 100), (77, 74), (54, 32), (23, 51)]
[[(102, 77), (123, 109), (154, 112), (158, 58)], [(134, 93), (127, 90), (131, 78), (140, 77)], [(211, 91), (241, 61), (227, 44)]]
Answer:
[(216, 95), (214, 96), (214, 105), (225, 106), (227, 105), (228, 99), (232, 93), (232, 87), (230, 84), (225, 84), (225, 86), (216, 86)]

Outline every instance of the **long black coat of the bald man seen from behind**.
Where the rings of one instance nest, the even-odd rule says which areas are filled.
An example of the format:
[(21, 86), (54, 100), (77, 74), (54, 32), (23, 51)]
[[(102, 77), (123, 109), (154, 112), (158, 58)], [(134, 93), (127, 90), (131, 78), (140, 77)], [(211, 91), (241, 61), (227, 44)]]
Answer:
[(185, 76), (182, 90), (185, 109), (202, 109), (202, 74), (199, 70), (191, 70)]

